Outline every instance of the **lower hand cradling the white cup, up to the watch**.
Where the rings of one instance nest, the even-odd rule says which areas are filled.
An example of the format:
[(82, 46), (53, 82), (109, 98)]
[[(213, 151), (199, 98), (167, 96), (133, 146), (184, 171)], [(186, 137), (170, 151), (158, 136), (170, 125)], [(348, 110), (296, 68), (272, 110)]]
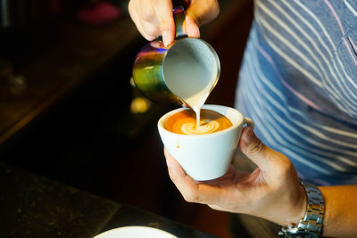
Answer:
[(258, 166), (251, 174), (231, 167), (225, 176), (197, 182), (165, 149), (170, 178), (186, 201), (262, 217), (280, 226), (299, 223), (306, 195), (291, 161), (262, 144), (250, 127), (243, 129), (239, 147)]

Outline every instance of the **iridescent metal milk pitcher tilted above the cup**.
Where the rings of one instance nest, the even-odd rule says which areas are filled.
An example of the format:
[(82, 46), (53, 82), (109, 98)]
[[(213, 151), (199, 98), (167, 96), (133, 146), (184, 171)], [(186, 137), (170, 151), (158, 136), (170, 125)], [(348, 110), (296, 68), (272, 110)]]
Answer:
[(138, 90), (155, 103), (192, 107), (197, 94), (205, 97), (204, 103), (217, 84), (220, 60), (207, 42), (187, 37), (182, 7), (174, 8), (173, 16), (174, 42), (167, 47), (161, 39), (146, 44), (137, 53), (133, 78)]

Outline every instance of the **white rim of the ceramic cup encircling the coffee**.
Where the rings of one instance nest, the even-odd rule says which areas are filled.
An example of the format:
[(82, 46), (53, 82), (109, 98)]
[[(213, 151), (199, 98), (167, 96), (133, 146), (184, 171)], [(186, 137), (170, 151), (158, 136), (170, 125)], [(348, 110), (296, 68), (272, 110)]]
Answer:
[[(237, 121), (237, 123), (233, 124), (232, 127), (228, 127), (226, 129), (223, 129), (223, 130), (220, 130), (220, 131), (217, 131), (217, 132), (213, 132), (213, 133), (209, 133), (209, 134), (201, 134), (201, 135), (184, 135), (184, 134), (178, 134), (178, 133), (174, 133), (174, 132), (171, 132), (169, 130), (167, 130), (164, 126), (163, 126), (163, 123), (164, 121), (170, 117), (172, 114), (175, 114), (179, 111), (184, 111), (184, 110), (192, 110), (191, 108), (178, 108), (178, 109), (175, 109), (175, 110), (172, 110), (172, 111), (169, 111), (167, 113), (165, 113), (157, 122), (157, 127), (159, 129), (162, 129), (163, 131), (165, 131), (166, 133), (170, 134), (170, 135), (176, 135), (176, 136), (189, 136), (189, 137), (210, 137), (210, 136), (216, 136), (216, 135), (220, 135), (220, 134), (223, 134), (223, 133), (228, 133), (229, 131), (231, 130), (236, 130), (237, 127), (239, 127), (241, 125), (242, 122), (244, 122), (244, 117), (243, 117), (243, 114), (240, 112), (240, 111), (237, 111), (237, 109), (235, 108), (232, 108), (232, 107), (228, 107), (228, 106), (223, 106), (223, 105), (217, 105), (217, 104), (204, 104), (202, 109), (207, 109), (207, 110), (212, 110), (212, 107), (219, 107), (219, 108), (225, 108), (225, 109), (229, 109), (229, 110), (233, 110), (237, 113), (237, 115), (240, 115), (240, 120)], [(214, 111), (214, 110), (212, 110)], [(218, 112), (218, 111), (217, 111)], [(227, 117), (226, 115), (224, 115), (225, 117)]]

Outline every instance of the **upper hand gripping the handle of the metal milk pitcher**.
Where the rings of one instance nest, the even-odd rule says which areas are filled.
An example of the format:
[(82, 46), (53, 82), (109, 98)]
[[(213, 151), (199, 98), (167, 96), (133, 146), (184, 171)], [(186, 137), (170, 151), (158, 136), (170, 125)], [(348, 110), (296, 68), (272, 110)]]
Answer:
[[(199, 26), (212, 21), (220, 12), (217, 0), (191, 0), (186, 10), (188, 37), (200, 37)], [(129, 14), (140, 34), (147, 40), (162, 35), (164, 45), (175, 36), (171, 0), (130, 0)]]

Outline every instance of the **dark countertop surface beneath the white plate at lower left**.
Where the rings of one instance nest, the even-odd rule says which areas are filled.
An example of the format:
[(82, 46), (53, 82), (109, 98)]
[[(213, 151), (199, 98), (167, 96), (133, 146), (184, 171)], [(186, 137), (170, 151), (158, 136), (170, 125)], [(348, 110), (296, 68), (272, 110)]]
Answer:
[(0, 191), (0, 237), (93, 237), (121, 226), (150, 226), (185, 238), (214, 237), (2, 162)]

